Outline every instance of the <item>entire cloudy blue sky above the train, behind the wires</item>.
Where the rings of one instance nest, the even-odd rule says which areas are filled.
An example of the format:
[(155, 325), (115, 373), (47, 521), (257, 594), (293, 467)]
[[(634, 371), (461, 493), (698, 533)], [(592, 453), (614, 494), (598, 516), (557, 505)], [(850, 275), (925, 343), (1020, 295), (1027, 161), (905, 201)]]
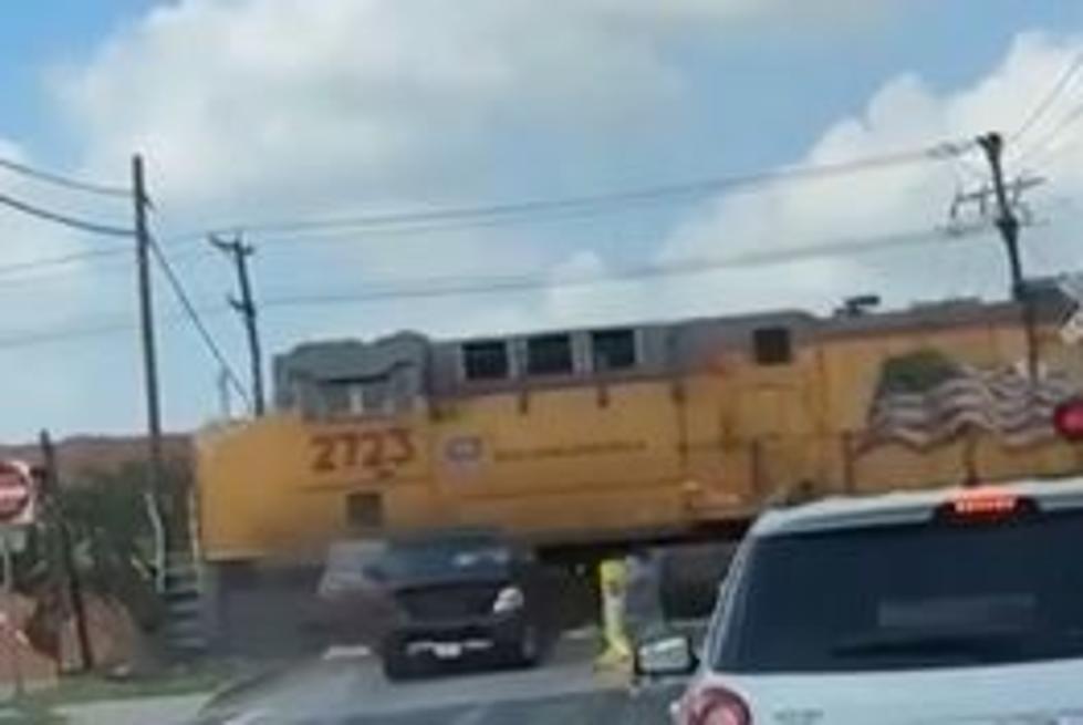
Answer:
[[(123, 179), (128, 154), (143, 151), (155, 227), (167, 242), (238, 221), (590, 195), (844, 160), (1010, 126), (1066, 65), (1083, 30), (1083, 7), (1069, 0), (982, 0), (980, 13), (961, 0), (825, 0), (808, 11), (783, 0), (548, 9), (471, 0), (454, 10), (426, 0), (11, 4), (0, 22), (0, 152)], [(1083, 83), (1064, 96), (1052, 121), (1083, 101)], [(1043, 195), (1063, 204), (1083, 182), (1061, 166), (1039, 170), (1051, 176)], [(560, 279), (931, 225), (966, 173), (847, 179), (512, 228), (250, 239), (260, 250), (257, 284), (270, 298), (438, 276)], [(0, 174), (3, 190), (96, 218), (127, 214)], [(815, 211), (805, 208), (810, 194), (822, 196)], [(18, 237), (7, 255), (15, 261), (102, 244), (10, 214), (0, 214), (0, 231)], [(228, 267), (198, 240), (169, 252), (200, 307), (221, 308)], [(1038, 267), (1075, 262), (1052, 231), (1035, 232), (1032, 252)], [(458, 335), (772, 305), (822, 310), (866, 289), (896, 303), (1001, 291), (995, 246), (944, 253), (939, 277), (921, 273), (920, 252), (893, 252), (590, 290), (277, 308), (263, 322), (273, 352), (404, 327)], [(123, 259), (67, 275), (0, 292), (3, 309), (18, 310), (0, 317), (0, 345), (28, 331), (134, 319)], [(158, 282), (159, 307), (175, 315)], [(242, 371), (237, 321), (219, 313), (208, 322)], [(198, 425), (216, 412), (216, 367), (183, 324), (167, 323), (162, 338), (167, 422)], [(35, 414), (0, 424), (0, 437), (140, 425), (134, 333), (25, 344), (7, 358), (2, 380), (19, 380), (8, 397)]]

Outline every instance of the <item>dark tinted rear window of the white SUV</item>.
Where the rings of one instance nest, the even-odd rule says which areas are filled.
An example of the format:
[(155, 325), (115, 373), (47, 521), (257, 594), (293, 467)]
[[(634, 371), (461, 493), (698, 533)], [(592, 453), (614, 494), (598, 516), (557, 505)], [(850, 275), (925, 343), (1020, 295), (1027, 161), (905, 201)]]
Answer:
[(722, 611), (725, 672), (1083, 657), (1083, 512), (750, 543)]

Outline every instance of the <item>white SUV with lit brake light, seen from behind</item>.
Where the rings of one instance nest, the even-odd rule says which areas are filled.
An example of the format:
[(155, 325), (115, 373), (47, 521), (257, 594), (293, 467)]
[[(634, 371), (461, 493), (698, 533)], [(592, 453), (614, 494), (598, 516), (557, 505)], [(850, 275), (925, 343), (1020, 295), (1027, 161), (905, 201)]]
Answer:
[(679, 725), (1081, 725), (1083, 479), (770, 511), (693, 660)]

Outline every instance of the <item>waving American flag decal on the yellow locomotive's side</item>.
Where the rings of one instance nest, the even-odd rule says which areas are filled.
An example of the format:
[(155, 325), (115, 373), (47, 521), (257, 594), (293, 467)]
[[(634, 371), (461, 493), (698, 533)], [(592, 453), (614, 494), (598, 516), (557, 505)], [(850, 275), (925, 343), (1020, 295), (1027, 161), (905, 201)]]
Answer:
[(982, 370), (924, 351), (888, 360), (868, 413), (861, 448), (903, 443), (929, 448), (967, 428), (996, 435), (1006, 446), (1053, 437), (1053, 408), (1079, 392), (1063, 373), (1033, 382), (1019, 366)]

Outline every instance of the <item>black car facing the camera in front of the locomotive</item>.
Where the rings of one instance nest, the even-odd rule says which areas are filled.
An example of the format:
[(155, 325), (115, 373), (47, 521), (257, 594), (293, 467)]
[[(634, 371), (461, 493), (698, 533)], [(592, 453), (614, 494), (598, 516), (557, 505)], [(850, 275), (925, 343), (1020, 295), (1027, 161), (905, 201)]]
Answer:
[(491, 534), (429, 536), (393, 542), (379, 569), (398, 614), (381, 646), (388, 679), (538, 661), (542, 573), (528, 551)]

